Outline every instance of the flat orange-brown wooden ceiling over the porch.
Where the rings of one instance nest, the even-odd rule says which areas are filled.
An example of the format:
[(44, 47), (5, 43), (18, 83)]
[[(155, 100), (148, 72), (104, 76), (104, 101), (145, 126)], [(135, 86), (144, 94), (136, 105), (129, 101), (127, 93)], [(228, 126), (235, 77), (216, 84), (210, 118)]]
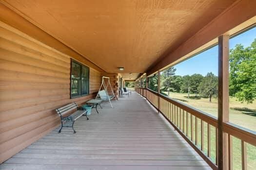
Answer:
[(107, 72), (144, 72), (235, 0), (2, 0)]

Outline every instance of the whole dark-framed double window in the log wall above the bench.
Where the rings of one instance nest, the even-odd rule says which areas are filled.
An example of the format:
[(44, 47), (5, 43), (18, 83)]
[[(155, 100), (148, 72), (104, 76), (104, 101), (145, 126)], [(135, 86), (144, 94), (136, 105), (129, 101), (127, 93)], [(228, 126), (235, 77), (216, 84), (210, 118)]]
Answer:
[(89, 68), (71, 61), (71, 98), (89, 94)]

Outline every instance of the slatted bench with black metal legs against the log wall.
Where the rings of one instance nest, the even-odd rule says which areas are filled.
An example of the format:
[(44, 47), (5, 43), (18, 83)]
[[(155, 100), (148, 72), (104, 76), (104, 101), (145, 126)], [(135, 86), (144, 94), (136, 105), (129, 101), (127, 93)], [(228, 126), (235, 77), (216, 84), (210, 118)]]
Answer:
[[(74, 112), (74, 110), (75, 110), (75, 112)], [(76, 102), (62, 106), (59, 109), (56, 109), (55, 111), (59, 114), (59, 117), (61, 119), (61, 128), (59, 129), (59, 133), (61, 132), (62, 127), (72, 127), (72, 129), (74, 130), (74, 134), (75, 134), (76, 133), (76, 131), (74, 129), (75, 121), (77, 119), (79, 119), (84, 114), (88, 120), (87, 111), (79, 110)], [(74, 112), (74, 113), (72, 113), (72, 112)], [(72, 114), (70, 116), (63, 116), (67, 113), (72, 113)], [(65, 122), (65, 124), (64, 124), (65, 126), (63, 126), (64, 122)]]

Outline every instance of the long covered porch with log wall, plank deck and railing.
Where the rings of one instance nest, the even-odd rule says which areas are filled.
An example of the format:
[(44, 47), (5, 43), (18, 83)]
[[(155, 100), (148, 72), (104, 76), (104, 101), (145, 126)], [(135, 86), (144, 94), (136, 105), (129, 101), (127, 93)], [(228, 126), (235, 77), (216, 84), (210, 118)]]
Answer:
[[(229, 119), (229, 66), (230, 40), (256, 27), (255, 6), (255, 0), (0, 0), (0, 170), (254, 170), (256, 131)], [(210, 90), (216, 116), (161, 91), (164, 70), (212, 47), (216, 66), (208, 65), (217, 83), (206, 83), (216, 85)], [(102, 88), (103, 77), (110, 83)], [(188, 98), (193, 80), (179, 82)], [(100, 91), (107, 98), (99, 100), (109, 101), (99, 114), (93, 109), (89, 120), (80, 114), (76, 134), (65, 127), (58, 133), (64, 114), (56, 109), (71, 104), (76, 113)]]

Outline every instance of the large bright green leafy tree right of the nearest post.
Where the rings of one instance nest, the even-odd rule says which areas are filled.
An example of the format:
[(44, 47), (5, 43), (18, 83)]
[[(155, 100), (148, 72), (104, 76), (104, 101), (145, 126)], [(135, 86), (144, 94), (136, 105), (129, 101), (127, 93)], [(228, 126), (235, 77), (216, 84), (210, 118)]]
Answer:
[(241, 102), (256, 99), (256, 39), (250, 47), (237, 44), (230, 51), (230, 96)]

